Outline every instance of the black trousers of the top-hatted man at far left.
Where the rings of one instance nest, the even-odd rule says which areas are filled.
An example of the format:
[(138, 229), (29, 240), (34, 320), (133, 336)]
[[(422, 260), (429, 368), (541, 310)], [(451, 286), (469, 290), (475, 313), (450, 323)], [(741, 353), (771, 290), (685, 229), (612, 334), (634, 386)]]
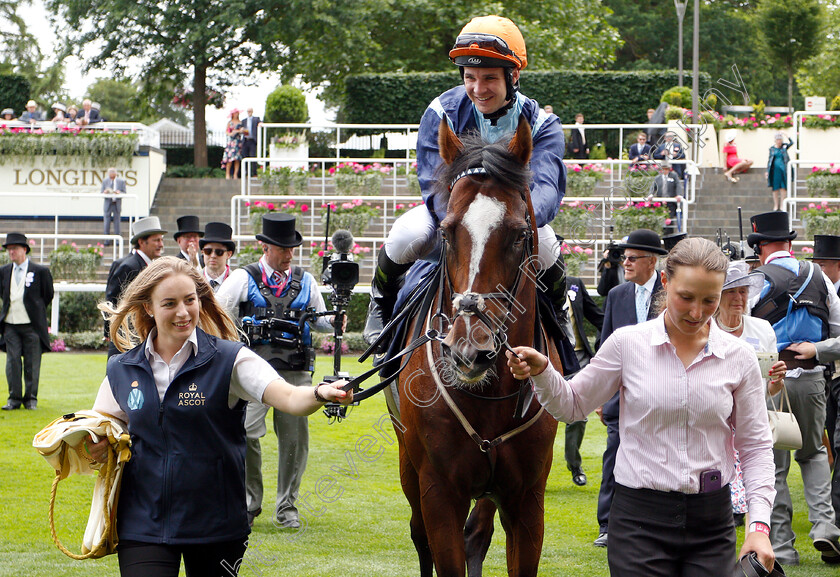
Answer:
[[(38, 381), (41, 378), (41, 339), (31, 324), (6, 323), (6, 382), (9, 383), (9, 402), (20, 405), (38, 400)], [(21, 381), (21, 374), (23, 381)], [(23, 390), (23, 383), (26, 390)]]

